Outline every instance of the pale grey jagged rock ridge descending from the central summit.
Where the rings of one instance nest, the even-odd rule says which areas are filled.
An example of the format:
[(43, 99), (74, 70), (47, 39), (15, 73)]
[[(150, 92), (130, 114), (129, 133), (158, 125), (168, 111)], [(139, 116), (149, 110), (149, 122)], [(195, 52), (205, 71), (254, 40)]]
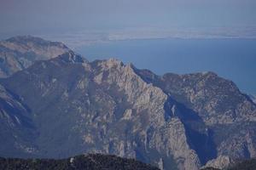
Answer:
[[(143, 137), (145, 150), (156, 150), (166, 157), (173, 156), (178, 162), (179, 169), (192, 170), (200, 167), (201, 163), (195, 150), (191, 150), (187, 144), (183, 123), (171, 116), (173, 115), (171, 110), (165, 110), (168, 96), (160, 88), (144, 82), (131, 64), (123, 65), (119, 60), (108, 59), (100, 62), (99, 65), (102, 67), (100, 74), (108, 75), (105, 80), (110, 84), (117, 84), (119, 90), (125, 92), (134, 112), (133, 119), (141, 119), (143, 122), (146, 117), (139, 116), (142, 112), (147, 112), (148, 122), (133, 131), (135, 133), (138, 131)], [(165, 165), (164, 161), (163, 165)]]

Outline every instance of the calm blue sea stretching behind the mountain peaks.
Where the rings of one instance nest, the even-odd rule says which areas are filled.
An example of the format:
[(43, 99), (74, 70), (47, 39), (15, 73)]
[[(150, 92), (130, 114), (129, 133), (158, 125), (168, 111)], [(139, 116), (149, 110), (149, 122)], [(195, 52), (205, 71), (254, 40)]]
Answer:
[(158, 75), (214, 71), (256, 94), (256, 39), (144, 39), (102, 42), (76, 49), (86, 59), (121, 59)]

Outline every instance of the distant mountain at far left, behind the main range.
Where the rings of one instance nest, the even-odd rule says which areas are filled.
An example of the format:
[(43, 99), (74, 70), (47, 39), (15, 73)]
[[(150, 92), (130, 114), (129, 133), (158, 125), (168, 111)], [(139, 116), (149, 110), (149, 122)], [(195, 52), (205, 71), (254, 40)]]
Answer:
[(12, 37), (0, 41), (0, 77), (9, 77), (36, 60), (51, 59), (69, 50), (61, 42), (49, 42), (39, 37)]

